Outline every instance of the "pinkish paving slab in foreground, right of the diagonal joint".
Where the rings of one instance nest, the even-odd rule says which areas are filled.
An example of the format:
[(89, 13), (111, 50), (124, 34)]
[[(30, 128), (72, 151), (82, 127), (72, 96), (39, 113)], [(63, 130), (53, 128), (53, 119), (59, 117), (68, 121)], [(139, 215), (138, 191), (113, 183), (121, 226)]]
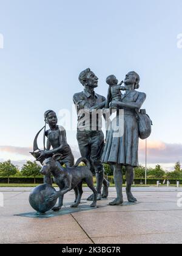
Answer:
[(182, 232), (182, 221), (167, 211), (87, 213), (87, 216), (74, 213), (73, 216), (90, 238)]

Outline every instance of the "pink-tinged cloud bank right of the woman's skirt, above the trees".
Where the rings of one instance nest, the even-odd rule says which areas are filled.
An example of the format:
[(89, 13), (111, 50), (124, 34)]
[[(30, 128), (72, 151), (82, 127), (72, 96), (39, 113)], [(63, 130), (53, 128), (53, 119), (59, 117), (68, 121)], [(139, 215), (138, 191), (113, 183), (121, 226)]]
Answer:
[[(145, 162), (146, 143), (140, 141), (139, 159)], [(182, 144), (164, 143), (162, 141), (147, 141), (147, 163), (175, 163), (182, 162)]]

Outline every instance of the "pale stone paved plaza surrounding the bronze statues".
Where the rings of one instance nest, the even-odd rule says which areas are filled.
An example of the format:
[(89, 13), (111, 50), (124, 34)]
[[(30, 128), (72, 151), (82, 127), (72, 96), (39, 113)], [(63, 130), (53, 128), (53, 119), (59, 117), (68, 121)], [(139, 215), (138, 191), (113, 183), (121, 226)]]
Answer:
[[(182, 207), (177, 205), (181, 188), (133, 188), (138, 204), (122, 207), (108, 205), (116, 196), (115, 188), (110, 188), (109, 198), (93, 210), (41, 219), (16, 216), (34, 212), (29, 205), (31, 190), (0, 188), (4, 194), (0, 243), (182, 243)], [(86, 201), (90, 193), (84, 188), (82, 205), (90, 204)], [(73, 200), (70, 191), (64, 207)]]

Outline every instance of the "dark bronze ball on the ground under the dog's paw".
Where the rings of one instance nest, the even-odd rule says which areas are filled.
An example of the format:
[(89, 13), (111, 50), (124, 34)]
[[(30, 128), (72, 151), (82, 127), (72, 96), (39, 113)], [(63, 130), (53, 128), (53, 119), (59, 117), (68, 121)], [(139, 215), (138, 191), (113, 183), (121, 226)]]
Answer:
[(47, 202), (47, 198), (54, 193), (56, 193), (56, 190), (52, 186), (46, 184), (39, 185), (30, 193), (29, 203), (38, 213), (48, 212), (55, 206), (57, 201), (57, 199), (55, 199), (51, 202)]

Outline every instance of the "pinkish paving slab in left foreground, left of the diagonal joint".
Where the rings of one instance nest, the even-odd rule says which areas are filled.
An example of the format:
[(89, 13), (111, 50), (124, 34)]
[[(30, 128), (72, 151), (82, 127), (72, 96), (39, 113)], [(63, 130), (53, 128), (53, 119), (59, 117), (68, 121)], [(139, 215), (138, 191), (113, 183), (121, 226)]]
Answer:
[(0, 243), (42, 243), (86, 238), (86, 233), (71, 215), (52, 218), (51, 221), (12, 216), (4, 217), (1, 222)]

